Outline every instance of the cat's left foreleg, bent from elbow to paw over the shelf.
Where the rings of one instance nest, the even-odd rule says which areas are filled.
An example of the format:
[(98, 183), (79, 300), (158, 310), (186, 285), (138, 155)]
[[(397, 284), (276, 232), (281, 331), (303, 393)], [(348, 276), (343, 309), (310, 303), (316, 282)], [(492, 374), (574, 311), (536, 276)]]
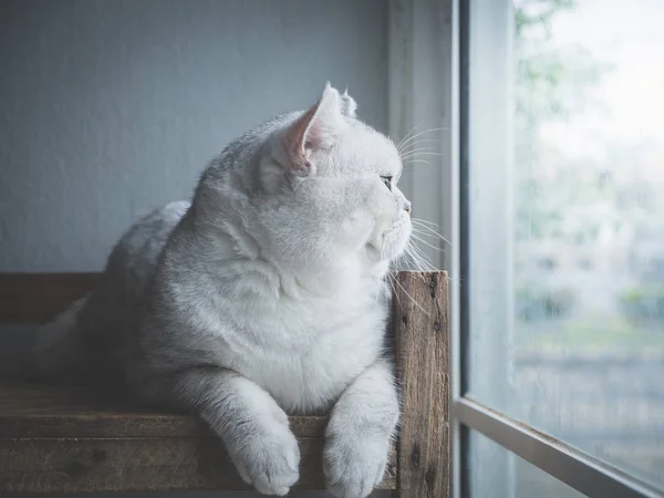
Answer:
[(242, 479), (266, 495), (284, 496), (298, 481), (300, 450), (288, 416), (248, 378), (216, 367), (152, 377), (143, 394), (194, 409), (219, 435)]

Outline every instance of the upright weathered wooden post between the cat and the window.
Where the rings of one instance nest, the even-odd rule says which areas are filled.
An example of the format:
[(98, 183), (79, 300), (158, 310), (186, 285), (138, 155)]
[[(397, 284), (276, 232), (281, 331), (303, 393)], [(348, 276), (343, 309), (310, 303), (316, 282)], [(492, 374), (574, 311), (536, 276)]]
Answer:
[(401, 272), (394, 300), (403, 415), (400, 498), (449, 497), (449, 320), (447, 273)]

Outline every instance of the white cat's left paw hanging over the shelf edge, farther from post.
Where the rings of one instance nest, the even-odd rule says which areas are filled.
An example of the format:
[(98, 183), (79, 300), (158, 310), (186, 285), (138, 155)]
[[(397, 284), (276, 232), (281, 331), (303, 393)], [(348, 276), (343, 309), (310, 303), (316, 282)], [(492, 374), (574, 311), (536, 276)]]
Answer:
[(246, 434), (230, 454), (242, 479), (263, 495), (288, 495), (300, 477), (300, 449), (288, 422)]

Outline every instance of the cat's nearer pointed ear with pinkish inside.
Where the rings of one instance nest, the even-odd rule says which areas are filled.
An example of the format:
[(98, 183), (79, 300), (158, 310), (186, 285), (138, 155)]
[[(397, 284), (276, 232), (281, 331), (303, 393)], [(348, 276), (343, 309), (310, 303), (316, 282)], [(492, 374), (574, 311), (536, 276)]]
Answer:
[(345, 125), (342, 96), (330, 83), (321, 98), (286, 132), (284, 141), (292, 172), (298, 176), (311, 173), (311, 153), (329, 148)]

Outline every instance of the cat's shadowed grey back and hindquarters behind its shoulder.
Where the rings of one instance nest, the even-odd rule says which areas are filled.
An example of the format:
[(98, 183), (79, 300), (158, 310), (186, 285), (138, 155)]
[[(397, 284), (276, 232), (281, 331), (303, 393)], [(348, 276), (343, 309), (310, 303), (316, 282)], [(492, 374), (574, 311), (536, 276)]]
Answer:
[(113, 248), (100, 284), (52, 323), (40, 328), (31, 373), (45, 380), (84, 372), (107, 376), (123, 362), (132, 319), (162, 250), (189, 207), (172, 203), (134, 224)]

